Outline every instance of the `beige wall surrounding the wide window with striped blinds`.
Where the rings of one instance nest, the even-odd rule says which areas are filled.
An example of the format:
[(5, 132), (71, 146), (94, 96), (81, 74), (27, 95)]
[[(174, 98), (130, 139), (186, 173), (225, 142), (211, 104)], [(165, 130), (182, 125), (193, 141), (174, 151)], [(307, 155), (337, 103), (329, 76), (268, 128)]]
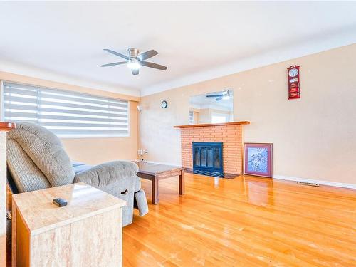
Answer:
[[(41, 80), (24, 75), (0, 72), (0, 80), (17, 83), (27, 83), (48, 88), (73, 90), (80, 93), (90, 93), (110, 98), (130, 100), (130, 137), (110, 138), (75, 138), (62, 139), (70, 159), (88, 164), (98, 164), (117, 159), (137, 159), (137, 102), (140, 98), (122, 95), (93, 88), (83, 88), (76, 85), (56, 83), (51, 80)], [(1, 111), (1, 110), (0, 110)]]

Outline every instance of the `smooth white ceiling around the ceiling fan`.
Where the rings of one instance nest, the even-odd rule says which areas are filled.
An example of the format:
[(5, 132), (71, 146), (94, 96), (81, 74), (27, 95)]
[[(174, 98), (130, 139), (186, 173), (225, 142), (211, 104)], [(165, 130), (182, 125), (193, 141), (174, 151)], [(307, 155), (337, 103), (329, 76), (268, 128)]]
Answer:
[[(1, 1), (0, 70), (155, 93), (356, 43), (356, 2)], [(133, 76), (103, 51), (155, 49)]]

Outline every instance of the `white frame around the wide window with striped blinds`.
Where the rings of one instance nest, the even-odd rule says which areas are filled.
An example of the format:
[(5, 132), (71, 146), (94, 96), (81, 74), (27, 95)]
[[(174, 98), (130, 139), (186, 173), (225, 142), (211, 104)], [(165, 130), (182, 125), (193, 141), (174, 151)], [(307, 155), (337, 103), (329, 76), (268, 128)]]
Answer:
[[(112, 97), (103, 97), (100, 95), (93, 95), (90, 93), (82, 93), (82, 92), (78, 92), (78, 91), (71, 91), (71, 90), (66, 90), (66, 89), (58, 89), (58, 88), (53, 88), (53, 87), (48, 87), (48, 86), (41, 86), (41, 85), (34, 85), (31, 83), (21, 83), (21, 82), (16, 82), (16, 81), (11, 81), (11, 80), (0, 80), (0, 120), (4, 121), (4, 117), (5, 117), (5, 105), (4, 105), (4, 83), (16, 83), (19, 85), (28, 85), (28, 86), (33, 86), (33, 87), (37, 87), (41, 90), (41, 88), (43, 89), (51, 89), (51, 90), (57, 90), (57, 91), (62, 91), (64, 93), (78, 93), (81, 95), (88, 95), (90, 97), (98, 97), (98, 98), (108, 98), (108, 99), (112, 99), (112, 100), (120, 100), (120, 101), (126, 101), (127, 102), (127, 134), (103, 134), (103, 135), (73, 135), (73, 136), (69, 136), (69, 135), (57, 135), (59, 138), (61, 139), (90, 139), (90, 138), (128, 138), (131, 137), (131, 122), (130, 122), (130, 116), (131, 116), (131, 112), (130, 112), (130, 100), (126, 100), (126, 99), (120, 99), (120, 98), (112, 98)], [(50, 130), (50, 129), (48, 129)], [(51, 131), (51, 130), (50, 130)], [(55, 134), (56, 135), (56, 134)]]

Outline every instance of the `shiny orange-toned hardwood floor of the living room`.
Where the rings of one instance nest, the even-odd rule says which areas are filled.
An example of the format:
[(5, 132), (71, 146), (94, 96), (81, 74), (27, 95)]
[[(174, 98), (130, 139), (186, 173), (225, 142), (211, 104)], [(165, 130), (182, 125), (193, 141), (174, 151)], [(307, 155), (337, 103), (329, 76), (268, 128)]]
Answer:
[[(356, 190), (185, 175), (124, 228), (124, 266), (356, 266)], [(148, 199), (150, 181), (142, 179)], [(137, 211), (135, 211), (137, 212)]]

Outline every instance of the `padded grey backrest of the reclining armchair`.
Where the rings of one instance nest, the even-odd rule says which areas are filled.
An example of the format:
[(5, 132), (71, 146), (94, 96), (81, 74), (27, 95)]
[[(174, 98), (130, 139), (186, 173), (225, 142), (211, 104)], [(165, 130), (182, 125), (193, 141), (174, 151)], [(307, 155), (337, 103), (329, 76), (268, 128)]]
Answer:
[(16, 123), (7, 135), (7, 165), (19, 192), (71, 184), (72, 163), (61, 140), (39, 125)]

